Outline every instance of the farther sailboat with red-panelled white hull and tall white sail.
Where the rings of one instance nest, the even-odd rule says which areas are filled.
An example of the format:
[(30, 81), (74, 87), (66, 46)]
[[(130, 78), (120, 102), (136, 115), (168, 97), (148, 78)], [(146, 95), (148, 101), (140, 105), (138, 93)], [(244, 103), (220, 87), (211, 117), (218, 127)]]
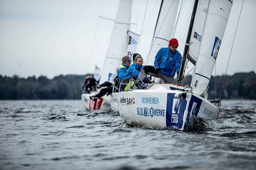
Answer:
[[(116, 74), (116, 68), (120, 65), (121, 59), (126, 52), (125, 40), (126, 32), (130, 27), (131, 10), (131, 0), (120, 0), (102, 69), (102, 74), (100, 76), (100, 84), (104, 83), (105, 81), (112, 82), (112, 78)], [(110, 111), (110, 96), (105, 95), (96, 101), (93, 101), (90, 99), (90, 96), (95, 94), (96, 92), (81, 95), (82, 103), (85, 109)]]

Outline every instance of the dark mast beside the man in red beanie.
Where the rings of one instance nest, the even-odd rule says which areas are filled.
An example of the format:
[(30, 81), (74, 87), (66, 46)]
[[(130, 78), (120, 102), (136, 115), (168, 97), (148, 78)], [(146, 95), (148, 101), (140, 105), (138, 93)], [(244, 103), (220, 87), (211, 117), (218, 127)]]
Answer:
[(193, 29), (193, 25), (194, 25), (194, 20), (195, 20), (195, 16), (196, 16), (197, 4), (198, 4), (198, 0), (195, 0), (194, 6), (193, 6), (192, 15), (191, 15), (191, 19), (190, 19), (190, 23), (189, 23), (189, 28), (188, 28), (188, 34), (187, 34), (187, 39), (186, 39), (186, 43), (185, 43), (185, 48), (184, 48), (184, 51), (183, 51), (182, 61), (181, 61), (181, 65), (180, 65), (180, 76), (179, 76), (179, 78), (177, 80), (178, 84), (181, 84), (183, 82), (183, 79), (184, 79), (184, 74), (185, 74), (185, 70), (186, 70), (185, 64), (186, 64), (187, 57), (188, 57), (190, 36), (191, 36), (191, 33), (192, 33), (192, 29)]

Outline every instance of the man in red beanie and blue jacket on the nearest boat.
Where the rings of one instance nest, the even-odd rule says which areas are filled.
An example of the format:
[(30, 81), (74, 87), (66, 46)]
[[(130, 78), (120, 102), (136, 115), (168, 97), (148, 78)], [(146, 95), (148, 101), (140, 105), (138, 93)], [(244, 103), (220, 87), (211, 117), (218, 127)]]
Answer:
[(144, 71), (141, 71), (140, 78), (145, 78), (145, 74), (162, 78), (164, 83), (174, 83), (175, 72), (179, 76), (181, 55), (177, 50), (179, 43), (176, 38), (172, 38), (168, 44), (169, 47), (160, 48), (155, 57), (154, 66), (146, 65)]

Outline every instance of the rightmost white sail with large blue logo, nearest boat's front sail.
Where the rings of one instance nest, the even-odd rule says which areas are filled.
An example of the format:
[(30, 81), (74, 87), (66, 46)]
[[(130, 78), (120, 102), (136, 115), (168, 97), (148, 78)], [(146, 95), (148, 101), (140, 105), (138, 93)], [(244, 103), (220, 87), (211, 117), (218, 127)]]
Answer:
[(193, 93), (203, 94), (207, 89), (232, 3), (232, 0), (210, 0), (209, 2), (199, 54), (190, 85)]

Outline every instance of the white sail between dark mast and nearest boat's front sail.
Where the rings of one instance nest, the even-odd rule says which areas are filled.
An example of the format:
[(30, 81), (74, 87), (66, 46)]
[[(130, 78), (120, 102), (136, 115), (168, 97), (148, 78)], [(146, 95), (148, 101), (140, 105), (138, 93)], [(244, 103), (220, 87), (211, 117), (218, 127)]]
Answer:
[(188, 59), (191, 63), (196, 65), (196, 58), (198, 56), (200, 42), (204, 29), (204, 21), (206, 18), (209, 0), (199, 0), (196, 8), (196, 16), (194, 20), (193, 30), (189, 43)]

